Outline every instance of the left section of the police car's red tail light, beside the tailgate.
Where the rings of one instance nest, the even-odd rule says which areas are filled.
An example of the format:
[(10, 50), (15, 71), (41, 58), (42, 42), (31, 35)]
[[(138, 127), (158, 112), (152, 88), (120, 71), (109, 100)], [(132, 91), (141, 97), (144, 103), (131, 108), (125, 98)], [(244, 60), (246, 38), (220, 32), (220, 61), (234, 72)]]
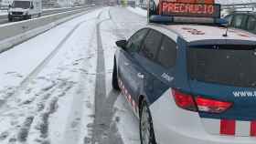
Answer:
[(191, 95), (187, 95), (187, 94), (182, 93), (176, 89), (173, 89), (172, 92), (173, 92), (173, 96), (176, 100), (176, 105), (179, 108), (197, 111), (196, 103)]

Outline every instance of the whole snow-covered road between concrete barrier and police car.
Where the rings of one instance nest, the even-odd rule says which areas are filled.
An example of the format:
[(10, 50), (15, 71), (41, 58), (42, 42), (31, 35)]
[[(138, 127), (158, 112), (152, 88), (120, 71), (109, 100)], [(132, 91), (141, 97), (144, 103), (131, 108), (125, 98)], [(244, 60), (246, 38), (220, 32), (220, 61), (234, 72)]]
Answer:
[(0, 143), (139, 144), (111, 80), (115, 41), (145, 24), (123, 7), (96, 9), (0, 54)]

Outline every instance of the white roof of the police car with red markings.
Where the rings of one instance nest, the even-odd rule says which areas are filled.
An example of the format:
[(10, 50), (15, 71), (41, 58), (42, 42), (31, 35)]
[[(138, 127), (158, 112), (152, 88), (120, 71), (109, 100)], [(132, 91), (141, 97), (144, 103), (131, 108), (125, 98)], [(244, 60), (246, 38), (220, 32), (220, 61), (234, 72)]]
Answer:
[(223, 36), (226, 33), (227, 28), (220, 26), (150, 24), (149, 27), (160, 31), (166, 36), (179, 36), (187, 42), (202, 40), (237, 40), (252, 41), (256, 43), (255, 35), (235, 28), (229, 28), (228, 36)]

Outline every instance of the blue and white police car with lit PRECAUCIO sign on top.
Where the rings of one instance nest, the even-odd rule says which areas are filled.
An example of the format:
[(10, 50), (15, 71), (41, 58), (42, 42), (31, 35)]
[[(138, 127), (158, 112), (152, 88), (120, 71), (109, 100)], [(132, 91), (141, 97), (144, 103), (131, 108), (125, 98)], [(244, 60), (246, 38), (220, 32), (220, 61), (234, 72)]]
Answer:
[[(255, 144), (256, 37), (221, 26), (219, 5), (155, 5), (161, 14), (149, 21), (169, 25), (116, 42), (112, 73), (112, 87), (139, 118), (141, 143)], [(195, 17), (174, 12), (176, 5), (213, 11)]]

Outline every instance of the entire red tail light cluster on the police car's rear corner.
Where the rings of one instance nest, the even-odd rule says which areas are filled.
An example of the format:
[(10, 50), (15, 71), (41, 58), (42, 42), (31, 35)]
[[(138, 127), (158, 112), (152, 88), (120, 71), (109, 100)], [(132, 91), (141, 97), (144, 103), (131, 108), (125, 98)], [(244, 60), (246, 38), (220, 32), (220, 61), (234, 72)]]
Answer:
[(219, 101), (200, 96), (192, 95), (172, 89), (172, 96), (175, 98), (176, 105), (191, 111), (201, 111), (208, 113), (222, 113), (232, 106), (231, 102)]

